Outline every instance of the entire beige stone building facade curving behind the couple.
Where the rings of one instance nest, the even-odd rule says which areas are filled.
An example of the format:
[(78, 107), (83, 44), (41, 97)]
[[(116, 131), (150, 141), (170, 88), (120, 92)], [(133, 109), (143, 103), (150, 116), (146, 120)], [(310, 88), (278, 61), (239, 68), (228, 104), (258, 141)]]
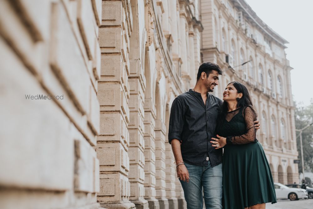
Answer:
[(0, 1), (0, 207), (185, 208), (169, 111), (204, 61), (218, 97), (249, 87), (274, 180), (295, 181), (285, 43), (241, 0)]

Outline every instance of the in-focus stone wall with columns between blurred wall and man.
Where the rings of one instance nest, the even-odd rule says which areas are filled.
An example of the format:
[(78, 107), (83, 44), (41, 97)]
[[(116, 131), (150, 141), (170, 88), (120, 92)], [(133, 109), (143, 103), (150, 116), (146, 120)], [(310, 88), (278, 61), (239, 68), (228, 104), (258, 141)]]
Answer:
[(201, 63), (198, 3), (102, 2), (97, 155), (103, 207), (186, 207), (167, 127), (172, 101), (195, 84)]

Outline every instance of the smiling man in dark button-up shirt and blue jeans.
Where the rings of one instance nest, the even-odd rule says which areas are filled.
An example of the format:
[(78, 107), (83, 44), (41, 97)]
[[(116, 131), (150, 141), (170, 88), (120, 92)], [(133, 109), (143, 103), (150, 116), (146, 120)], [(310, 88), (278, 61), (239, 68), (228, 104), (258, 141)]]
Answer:
[(203, 208), (202, 188), (206, 208), (222, 208), (223, 153), (210, 143), (222, 100), (208, 94), (222, 74), (217, 64), (201, 64), (195, 87), (179, 95), (172, 104), (168, 141), (188, 209)]

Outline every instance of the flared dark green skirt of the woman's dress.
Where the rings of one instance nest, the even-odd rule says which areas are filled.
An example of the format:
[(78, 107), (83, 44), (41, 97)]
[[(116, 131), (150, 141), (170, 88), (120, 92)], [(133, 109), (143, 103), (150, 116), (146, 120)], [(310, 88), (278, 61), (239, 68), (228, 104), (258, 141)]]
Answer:
[(223, 153), (223, 208), (243, 209), (276, 202), (273, 177), (262, 145), (226, 145)]

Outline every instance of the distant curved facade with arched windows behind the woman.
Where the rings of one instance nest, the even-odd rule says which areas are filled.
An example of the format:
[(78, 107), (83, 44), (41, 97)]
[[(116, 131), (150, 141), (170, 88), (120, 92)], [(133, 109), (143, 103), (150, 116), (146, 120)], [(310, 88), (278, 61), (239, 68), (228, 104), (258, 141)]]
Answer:
[(261, 124), (257, 138), (264, 147), (274, 181), (297, 182), (298, 166), (293, 163), (298, 152), (290, 85), (292, 68), (284, 45), (288, 42), (266, 25), (261, 26), (261, 20), (242, 0), (202, 0), (201, 8), (203, 62), (218, 63), (224, 71), (214, 94), (222, 98), (223, 89), (234, 80), (246, 85)]

